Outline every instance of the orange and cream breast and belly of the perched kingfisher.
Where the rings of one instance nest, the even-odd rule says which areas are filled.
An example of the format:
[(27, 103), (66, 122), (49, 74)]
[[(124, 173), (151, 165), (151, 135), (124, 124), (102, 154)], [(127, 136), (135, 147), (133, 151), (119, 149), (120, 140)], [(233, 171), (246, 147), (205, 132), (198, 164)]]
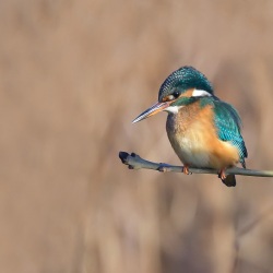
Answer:
[(212, 106), (201, 109), (199, 103), (181, 107), (177, 115), (168, 115), (168, 138), (183, 164), (222, 169), (238, 163), (238, 150), (218, 139), (213, 119)]

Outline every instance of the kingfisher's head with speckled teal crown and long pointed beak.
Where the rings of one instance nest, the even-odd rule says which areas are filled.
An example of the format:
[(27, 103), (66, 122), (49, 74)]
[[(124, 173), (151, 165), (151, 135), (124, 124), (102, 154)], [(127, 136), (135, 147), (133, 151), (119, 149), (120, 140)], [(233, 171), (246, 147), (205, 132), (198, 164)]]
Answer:
[(158, 102), (132, 122), (141, 121), (163, 110), (177, 114), (180, 107), (204, 96), (213, 96), (213, 87), (209, 80), (194, 68), (182, 67), (164, 81), (159, 88)]

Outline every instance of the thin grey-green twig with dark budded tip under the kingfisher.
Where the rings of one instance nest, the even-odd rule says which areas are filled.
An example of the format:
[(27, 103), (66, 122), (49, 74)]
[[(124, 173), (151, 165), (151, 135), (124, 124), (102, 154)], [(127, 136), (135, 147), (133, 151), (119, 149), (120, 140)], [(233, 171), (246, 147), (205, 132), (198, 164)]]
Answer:
[[(139, 155), (127, 152), (119, 152), (119, 158), (124, 165), (128, 165), (130, 169), (154, 169), (159, 171), (174, 171), (182, 173), (182, 166), (174, 166), (165, 163), (154, 163), (141, 158)], [(218, 174), (216, 169), (209, 168), (189, 168), (192, 174)], [(226, 169), (226, 175), (239, 175), (239, 176), (257, 176), (257, 177), (273, 177), (273, 170), (254, 170), (254, 169), (244, 169), (244, 168), (228, 168)]]

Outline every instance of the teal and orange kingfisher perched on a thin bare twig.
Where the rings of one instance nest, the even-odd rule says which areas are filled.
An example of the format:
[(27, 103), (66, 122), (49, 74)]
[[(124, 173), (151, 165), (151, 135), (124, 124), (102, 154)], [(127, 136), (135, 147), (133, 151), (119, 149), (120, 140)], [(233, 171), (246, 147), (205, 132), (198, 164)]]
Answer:
[(159, 111), (168, 112), (166, 131), (186, 175), (190, 167), (213, 168), (226, 186), (236, 186), (235, 176), (225, 170), (238, 163), (246, 168), (241, 119), (230, 104), (214, 95), (204, 74), (192, 67), (174, 71), (162, 84), (158, 102), (132, 122)]

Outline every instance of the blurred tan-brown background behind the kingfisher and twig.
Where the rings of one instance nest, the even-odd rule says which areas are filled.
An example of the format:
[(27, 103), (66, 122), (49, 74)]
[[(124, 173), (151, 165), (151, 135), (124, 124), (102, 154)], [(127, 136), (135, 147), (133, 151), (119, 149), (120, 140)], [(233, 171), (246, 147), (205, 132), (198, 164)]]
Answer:
[(166, 114), (131, 124), (190, 64), (273, 169), (273, 2), (0, 1), (0, 271), (273, 272), (273, 179), (128, 170), (179, 164)]

